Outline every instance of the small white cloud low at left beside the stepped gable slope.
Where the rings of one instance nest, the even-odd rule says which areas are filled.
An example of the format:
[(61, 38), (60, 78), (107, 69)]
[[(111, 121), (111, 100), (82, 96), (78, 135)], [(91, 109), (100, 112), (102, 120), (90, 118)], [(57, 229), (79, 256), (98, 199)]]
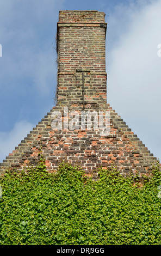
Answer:
[(10, 132), (0, 132), (0, 162), (18, 146), (24, 137), (33, 130), (34, 125), (27, 121), (20, 121), (15, 124)]

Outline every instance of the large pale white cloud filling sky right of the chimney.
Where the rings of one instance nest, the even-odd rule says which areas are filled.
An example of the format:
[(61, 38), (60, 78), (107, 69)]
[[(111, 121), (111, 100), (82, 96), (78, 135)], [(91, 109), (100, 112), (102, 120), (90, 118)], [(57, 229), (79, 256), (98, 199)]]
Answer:
[(160, 0), (144, 1), (139, 8), (138, 5), (130, 5), (126, 10), (123, 6), (117, 7), (112, 19), (108, 20), (108, 27), (113, 28), (113, 32), (109, 28), (108, 38), (110, 33), (116, 32), (117, 41), (114, 45), (110, 42), (107, 55), (108, 102), (159, 159), (161, 58), (157, 53), (161, 43), (160, 11)]

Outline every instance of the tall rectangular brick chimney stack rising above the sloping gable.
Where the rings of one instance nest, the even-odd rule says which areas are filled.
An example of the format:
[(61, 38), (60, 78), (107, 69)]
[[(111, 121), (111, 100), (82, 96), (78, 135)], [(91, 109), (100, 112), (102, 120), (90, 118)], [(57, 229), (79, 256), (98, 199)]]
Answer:
[(59, 12), (57, 100), (63, 105), (106, 102), (104, 16), (98, 11)]

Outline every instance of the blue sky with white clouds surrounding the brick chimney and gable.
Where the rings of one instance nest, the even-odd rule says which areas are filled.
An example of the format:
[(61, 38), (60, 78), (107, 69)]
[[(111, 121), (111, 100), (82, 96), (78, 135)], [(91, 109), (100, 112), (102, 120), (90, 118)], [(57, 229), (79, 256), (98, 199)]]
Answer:
[(161, 0), (1, 0), (0, 162), (54, 105), (59, 10), (106, 13), (108, 103), (161, 157)]

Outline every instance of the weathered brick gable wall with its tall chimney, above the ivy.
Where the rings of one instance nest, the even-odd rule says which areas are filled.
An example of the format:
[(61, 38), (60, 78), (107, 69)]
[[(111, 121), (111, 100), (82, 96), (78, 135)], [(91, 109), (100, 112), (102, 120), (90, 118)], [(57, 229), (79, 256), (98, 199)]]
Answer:
[[(7, 168), (22, 169), (29, 163), (35, 165), (40, 149), (49, 172), (55, 172), (61, 161), (82, 166), (88, 175), (97, 178), (97, 168), (115, 164), (121, 174), (129, 172), (148, 175), (156, 157), (148, 151), (137, 135), (110, 107), (107, 101), (105, 39), (107, 24), (104, 13), (98, 11), (60, 11), (57, 29), (58, 85), (57, 105), (21, 141), (13, 153), (0, 164), (3, 174)], [(85, 125), (80, 129), (80, 119), (71, 117), (69, 124), (75, 130), (53, 129), (55, 111), (61, 113), (58, 121), (66, 124), (64, 107), (68, 112), (90, 111), (97, 115), (110, 113), (110, 132), (101, 136)], [(75, 121), (75, 123), (74, 123)], [(86, 124), (86, 123), (83, 123)]]

